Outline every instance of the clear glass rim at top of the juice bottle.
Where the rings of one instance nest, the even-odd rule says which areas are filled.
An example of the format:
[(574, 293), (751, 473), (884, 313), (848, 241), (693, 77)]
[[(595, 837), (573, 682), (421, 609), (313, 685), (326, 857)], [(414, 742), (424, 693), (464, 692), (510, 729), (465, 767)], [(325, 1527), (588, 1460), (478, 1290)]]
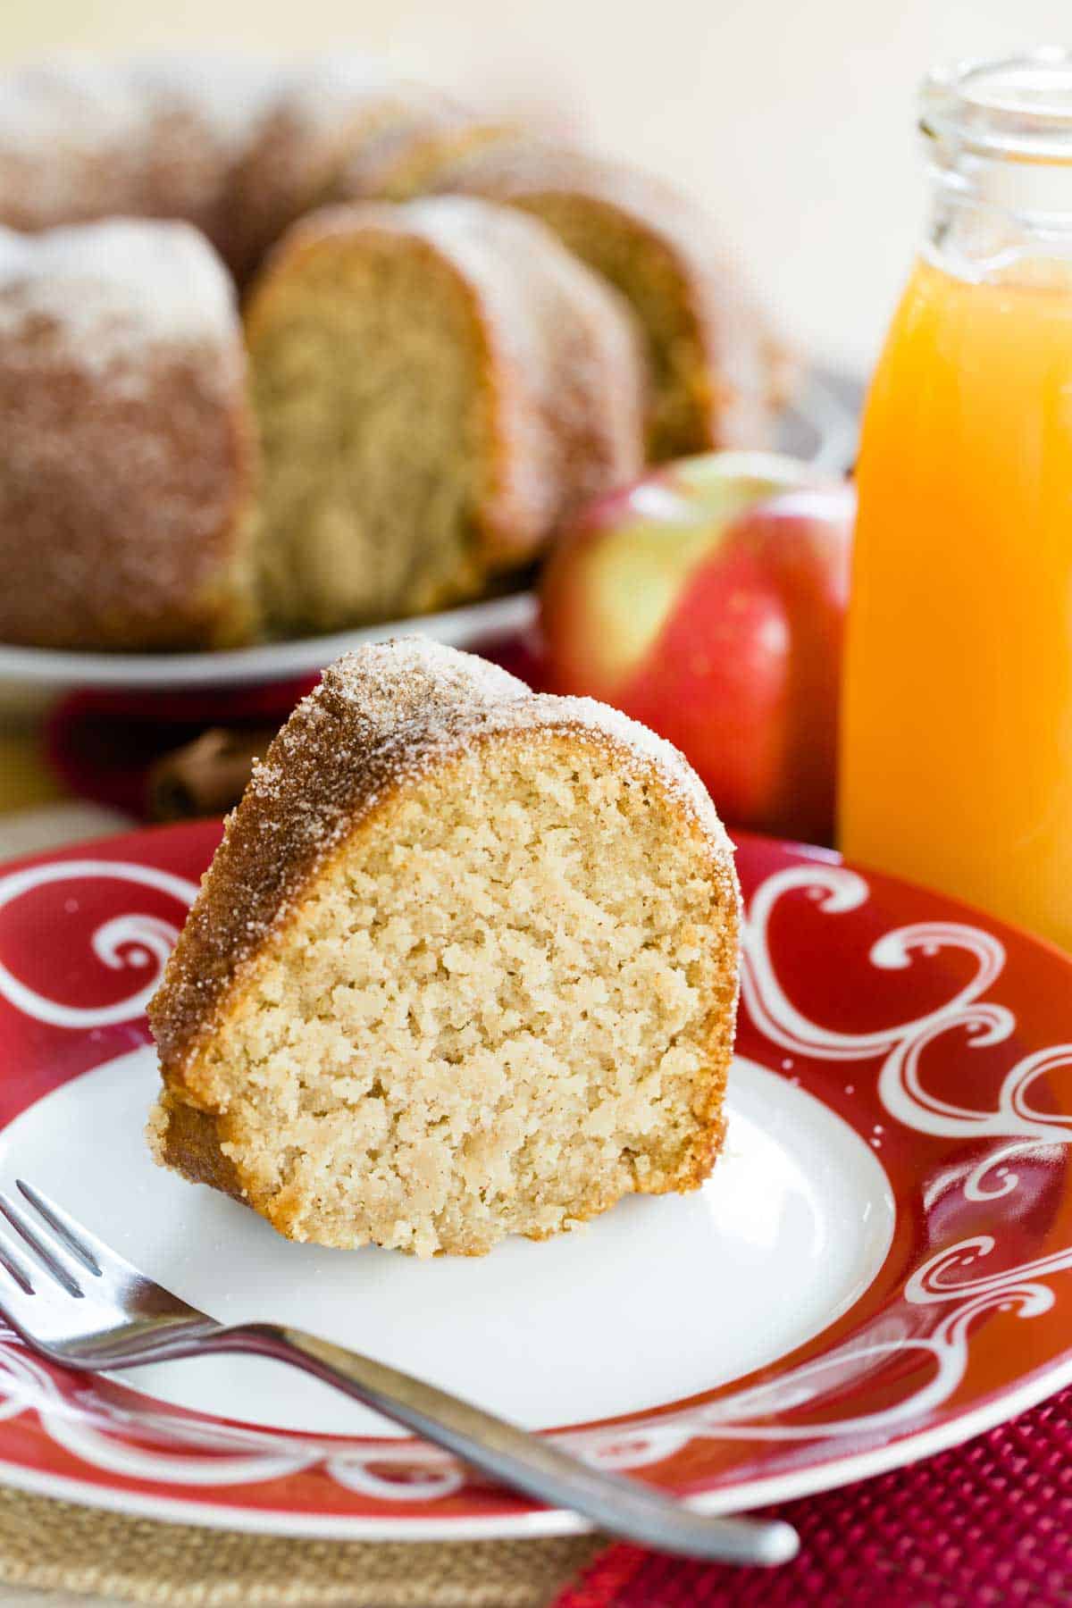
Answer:
[(919, 90), (919, 130), (951, 159), (1072, 162), (1072, 48), (934, 68)]

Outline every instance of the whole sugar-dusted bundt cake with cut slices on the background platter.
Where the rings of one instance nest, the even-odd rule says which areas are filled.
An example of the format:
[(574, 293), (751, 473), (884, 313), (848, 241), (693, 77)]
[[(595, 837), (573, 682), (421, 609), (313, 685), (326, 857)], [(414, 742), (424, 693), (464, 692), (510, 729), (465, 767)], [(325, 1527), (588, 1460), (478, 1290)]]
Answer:
[[(0, 74), (0, 228), (40, 236), (0, 236), (6, 642), (196, 648), (466, 601), (644, 441), (762, 444), (776, 392), (691, 204), (362, 58)], [(211, 248), (249, 289), (264, 479)]]

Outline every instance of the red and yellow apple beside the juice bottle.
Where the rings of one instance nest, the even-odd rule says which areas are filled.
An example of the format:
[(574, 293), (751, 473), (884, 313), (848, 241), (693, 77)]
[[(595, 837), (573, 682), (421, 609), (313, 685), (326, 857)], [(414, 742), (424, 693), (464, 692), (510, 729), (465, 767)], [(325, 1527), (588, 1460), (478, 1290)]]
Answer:
[(767, 452), (599, 498), (543, 571), (554, 690), (677, 743), (728, 822), (828, 839), (853, 511), (847, 481)]

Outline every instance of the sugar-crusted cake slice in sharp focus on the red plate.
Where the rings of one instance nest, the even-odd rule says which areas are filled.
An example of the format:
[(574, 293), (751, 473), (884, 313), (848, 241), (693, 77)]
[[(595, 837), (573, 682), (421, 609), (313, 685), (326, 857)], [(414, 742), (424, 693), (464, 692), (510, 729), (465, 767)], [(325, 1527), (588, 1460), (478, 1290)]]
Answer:
[(482, 1254), (723, 1137), (738, 888), (667, 743), (394, 642), (256, 769), (149, 1005), (161, 1163), (293, 1240)]

